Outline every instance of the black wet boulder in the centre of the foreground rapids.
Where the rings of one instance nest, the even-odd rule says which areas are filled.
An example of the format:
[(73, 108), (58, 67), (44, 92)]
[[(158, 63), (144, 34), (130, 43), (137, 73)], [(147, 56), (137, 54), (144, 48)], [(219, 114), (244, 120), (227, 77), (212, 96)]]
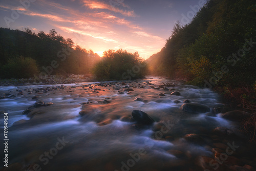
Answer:
[(152, 119), (148, 114), (145, 112), (142, 112), (140, 110), (134, 110), (132, 111), (132, 116), (135, 121), (137, 121), (138, 124), (143, 124), (143, 125), (151, 125), (154, 123), (154, 119)]

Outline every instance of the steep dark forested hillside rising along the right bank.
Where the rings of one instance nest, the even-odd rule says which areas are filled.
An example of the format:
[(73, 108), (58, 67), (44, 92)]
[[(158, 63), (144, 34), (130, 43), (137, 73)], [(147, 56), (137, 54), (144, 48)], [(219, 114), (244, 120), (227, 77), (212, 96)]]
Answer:
[(208, 1), (188, 25), (176, 23), (162, 50), (147, 60), (150, 74), (185, 79), (230, 98), (253, 101), (255, 21), (255, 1)]

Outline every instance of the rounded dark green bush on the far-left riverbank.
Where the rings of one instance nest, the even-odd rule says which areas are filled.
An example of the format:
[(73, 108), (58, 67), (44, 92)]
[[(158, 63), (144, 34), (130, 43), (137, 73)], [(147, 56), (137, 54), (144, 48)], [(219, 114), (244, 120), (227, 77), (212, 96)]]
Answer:
[(38, 74), (36, 61), (23, 56), (9, 59), (1, 68), (1, 78), (31, 78), (35, 74)]

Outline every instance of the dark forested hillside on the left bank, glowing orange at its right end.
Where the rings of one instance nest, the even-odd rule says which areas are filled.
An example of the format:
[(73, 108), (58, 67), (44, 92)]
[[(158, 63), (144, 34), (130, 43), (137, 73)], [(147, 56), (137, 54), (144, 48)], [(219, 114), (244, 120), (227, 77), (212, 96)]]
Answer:
[(88, 74), (100, 57), (54, 29), (35, 34), (0, 28), (0, 78)]

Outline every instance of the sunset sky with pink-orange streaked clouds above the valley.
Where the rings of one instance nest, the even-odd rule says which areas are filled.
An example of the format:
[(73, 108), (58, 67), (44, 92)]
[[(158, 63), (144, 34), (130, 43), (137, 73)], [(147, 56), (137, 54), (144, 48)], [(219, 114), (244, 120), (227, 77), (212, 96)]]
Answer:
[[(23, 3), (22, 3), (23, 2)], [(143, 58), (159, 52), (174, 23), (184, 25), (203, 0), (1, 0), (0, 27), (55, 29), (98, 55), (123, 48)], [(186, 18), (184, 18), (184, 16)]]

